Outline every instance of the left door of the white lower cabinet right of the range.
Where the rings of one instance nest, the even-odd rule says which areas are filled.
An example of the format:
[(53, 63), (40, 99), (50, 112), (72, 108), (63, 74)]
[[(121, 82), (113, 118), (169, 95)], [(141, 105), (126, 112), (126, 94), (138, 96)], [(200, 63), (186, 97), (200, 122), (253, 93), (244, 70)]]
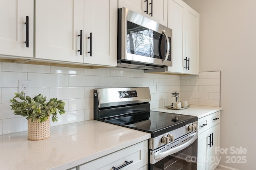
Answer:
[(208, 167), (206, 162), (208, 158), (208, 132), (204, 131), (198, 135), (197, 170), (206, 170)]

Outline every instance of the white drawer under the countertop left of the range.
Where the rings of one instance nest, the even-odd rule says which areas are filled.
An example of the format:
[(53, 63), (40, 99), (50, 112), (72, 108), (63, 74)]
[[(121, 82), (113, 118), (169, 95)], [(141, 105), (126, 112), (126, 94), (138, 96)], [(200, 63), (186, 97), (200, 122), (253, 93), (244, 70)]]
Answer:
[[(132, 162), (131, 162), (132, 161)], [(79, 170), (113, 170), (124, 164), (125, 170), (138, 170), (148, 164), (148, 141), (143, 141), (79, 166)], [(143, 169), (143, 168), (142, 168)]]

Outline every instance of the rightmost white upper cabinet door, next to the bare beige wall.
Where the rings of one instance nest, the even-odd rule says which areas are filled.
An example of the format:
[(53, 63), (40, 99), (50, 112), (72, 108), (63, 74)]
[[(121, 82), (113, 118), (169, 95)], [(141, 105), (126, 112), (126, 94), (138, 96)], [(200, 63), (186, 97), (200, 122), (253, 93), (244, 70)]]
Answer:
[[(198, 74), (199, 70), (199, 14), (190, 6), (186, 6), (186, 54), (189, 59), (188, 74)], [(184, 58), (184, 59), (185, 59)], [(186, 61), (185, 61), (186, 62)], [(185, 63), (186, 65), (186, 63)]]

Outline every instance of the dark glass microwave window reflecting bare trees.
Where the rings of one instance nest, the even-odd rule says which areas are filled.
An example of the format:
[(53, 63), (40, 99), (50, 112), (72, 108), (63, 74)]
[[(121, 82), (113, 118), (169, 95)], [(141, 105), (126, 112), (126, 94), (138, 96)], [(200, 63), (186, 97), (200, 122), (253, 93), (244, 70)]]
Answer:
[(162, 37), (158, 32), (127, 21), (127, 53), (162, 59), (158, 52)]

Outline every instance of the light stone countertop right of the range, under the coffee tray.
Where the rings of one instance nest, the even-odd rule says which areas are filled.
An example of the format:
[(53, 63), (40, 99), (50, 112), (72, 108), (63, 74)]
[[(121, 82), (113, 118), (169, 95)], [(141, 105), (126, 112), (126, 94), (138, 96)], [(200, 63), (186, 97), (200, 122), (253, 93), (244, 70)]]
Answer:
[(210, 115), (222, 109), (223, 107), (190, 105), (190, 107), (188, 107), (187, 109), (182, 109), (182, 110), (167, 109), (166, 107), (158, 107), (151, 110), (162, 111), (167, 113), (176, 113), (180, 115), (192, 115), (192, 116), (197, 116), (198, 119), (200, 119), (204, 116)]

